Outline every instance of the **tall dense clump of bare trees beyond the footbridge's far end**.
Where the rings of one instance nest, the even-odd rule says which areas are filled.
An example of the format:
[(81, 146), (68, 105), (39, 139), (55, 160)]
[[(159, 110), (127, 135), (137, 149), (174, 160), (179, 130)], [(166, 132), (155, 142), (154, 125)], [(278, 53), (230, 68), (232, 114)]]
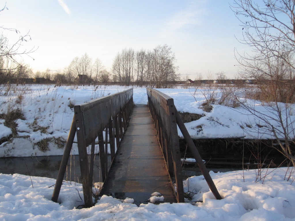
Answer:
[(123, 49), (114, 58), (113, 80), (120, 85), (167, 88), (180, 79), (175, 63), (175, 55), (166, 44), (159, 45), (152, 51)]

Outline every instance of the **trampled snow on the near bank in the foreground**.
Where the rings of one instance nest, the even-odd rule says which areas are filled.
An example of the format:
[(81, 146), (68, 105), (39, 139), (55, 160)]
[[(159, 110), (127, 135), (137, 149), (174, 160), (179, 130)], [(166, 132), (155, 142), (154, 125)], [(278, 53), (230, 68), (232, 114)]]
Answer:
[[(94, 207), (75, 209), (83, 204), (81, 184), (65, 183), (59, 203), (50, 201), (54, 179), (19, 174), (0, 174), (0, 219), (23, 220), (211, 220), (278, 221), (295, 220), (294, 175), (287, 181), (286, 168), (211, 173), (219, 193), (214, 199), (203, 176), (185, 181), (185, 191), (197, 193), (191, 203), (135, 204), (103, 196)], [(290, 172), (287, 172), (287, 177)], [(264, 177), (266, 175), (266, 177)], [(32, 179), (32, 181), (31, 181)], [(50, 187), (50, 188), (48, 188)], [(83, 199), (83, 197), (82, 197)]]

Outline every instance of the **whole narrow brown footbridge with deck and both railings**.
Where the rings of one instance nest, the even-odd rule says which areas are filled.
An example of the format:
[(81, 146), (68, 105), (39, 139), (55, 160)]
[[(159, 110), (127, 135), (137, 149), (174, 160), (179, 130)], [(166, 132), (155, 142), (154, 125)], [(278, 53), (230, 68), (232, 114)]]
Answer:
[[(94, 149), (98, 138), (102, 181), (100, 195), (148, 203), (153, 192), (160, 202), (184, 202), (177, 125), (212, 193), (221, 199), (173, 99), (147, 88), (148, 105), (133, 104), (133, 89), (74, 106), (74, 117), (60, 164), (52, 201), (58, 196), (75, 135), (78, 140), (85, 207), (93, 206)], [(105, 138), (103, 136), (105, 133)], [(91, 152), (87, 147), (91, 145)], [(116, 148), (117, 147), (117, 148)], [(108, 166), (108, 148), (112, 164)], [(117, 151), (116, 151), (117, 149)]]

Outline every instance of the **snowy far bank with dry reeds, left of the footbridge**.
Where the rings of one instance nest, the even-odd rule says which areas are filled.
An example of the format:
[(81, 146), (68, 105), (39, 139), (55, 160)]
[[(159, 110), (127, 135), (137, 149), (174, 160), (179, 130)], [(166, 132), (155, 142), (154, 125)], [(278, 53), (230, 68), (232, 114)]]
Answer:
[[(33, 85), (26, 91), (22, 86), (12, 96), (0, 97), (0, 110), (21, 110), (24, 119), (17, 119), (17, 136), (9, 137), (12, 129), (4, 126), (0, 119), (0, 140), (9, 137), (9, 141), (0, 145), (0, 157), (8, 156), (52, 156), (62, 155), (73, 119), (73, 105), (89, 102), (109, 94), (114, 94), (126, 87), (89, 86), (89, 87), (54, 87)], [(138, 89), (136, 103), (147, 103), (142, 94), (145, 88)], [(0, 112), (0, 114), (2, 114)], [(76, 138), (75, 138), (76, 142)], [(77, 145), (73, 150), (78, 153)]]

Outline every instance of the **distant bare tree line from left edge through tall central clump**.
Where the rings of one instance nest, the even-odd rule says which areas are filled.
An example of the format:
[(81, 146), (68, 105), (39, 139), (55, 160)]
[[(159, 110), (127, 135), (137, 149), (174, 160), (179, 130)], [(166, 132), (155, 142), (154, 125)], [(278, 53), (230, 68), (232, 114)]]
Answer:
[[(0, 63), (1, 64), (1, 63)], [(56, 83), (91, 85), (114, 83), (152, 88), (167, 88), (180, 80), (175, 55), (166, 44), (153, 50), (123, 49), (115, 56), (111, 71), (107, 71), (99, 58), (92, 62), (87, 53), (75, 57), (64, 70), (52, 73), (32, 72), (29, 65), (13, 63), (14, 68), (2, 68), (0, 84), (6, 83)], [(34, 80), (33, 80), (34, 79)], [(36, 81), (36, 79), (38, 79)]]

